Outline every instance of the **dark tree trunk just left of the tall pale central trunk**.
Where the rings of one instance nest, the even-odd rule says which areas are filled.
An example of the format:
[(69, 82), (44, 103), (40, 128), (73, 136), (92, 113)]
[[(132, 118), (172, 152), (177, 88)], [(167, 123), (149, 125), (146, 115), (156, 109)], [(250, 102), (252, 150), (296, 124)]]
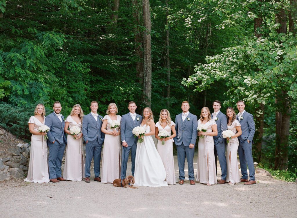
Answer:
[(136, 77), (139, 79), (139, 83), (143, 86), (143, 52), (142, 52), (142, 43), (143, 38), (140, 32), (140, 5), (138, 0), (132, 0), (133, 4), (133, 18), (134, 18), (134, 48), (136, 56)]

